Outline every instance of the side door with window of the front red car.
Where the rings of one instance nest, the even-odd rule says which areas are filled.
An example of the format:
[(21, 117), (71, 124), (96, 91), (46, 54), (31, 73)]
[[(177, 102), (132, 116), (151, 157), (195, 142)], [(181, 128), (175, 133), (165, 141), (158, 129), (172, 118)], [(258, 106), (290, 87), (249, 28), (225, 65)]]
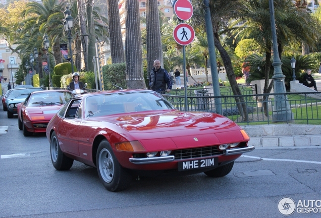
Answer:
[(79, 155), (78, 138), (79, 125), (81, 118), (76, 117), (78, 107), (81, 105), (81, 99), (71, 100), (66, 110), (65, 118), (59, 124), (58, 138), (63, 151)]

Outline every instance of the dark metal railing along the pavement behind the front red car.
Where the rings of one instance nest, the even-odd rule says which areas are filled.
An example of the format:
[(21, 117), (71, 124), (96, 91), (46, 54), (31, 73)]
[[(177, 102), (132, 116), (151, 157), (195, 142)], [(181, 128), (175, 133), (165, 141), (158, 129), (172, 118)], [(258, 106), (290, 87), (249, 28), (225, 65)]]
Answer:
[[(222, 115), (228, 117), (232, 121), (240, 125), (251, 124), (272, 124), (272, 123), (291, 123), (291, 124), (321, 124), (321, 93), (320, 92), (300, 92), (300, 93), (269, 93), (269, 94), (246, 94), (246, 95), (222, 95), (210, 96), (208, 94), (195, 95), (189, 91), (187, 96), (188, 112), (200, 111), (216, 113), (215, 99), (221, 99)], [(169, 100), (178, 110), (185, 111), (185, 97), (181, 95), (164, 94), (163, 96)], [(315, 95), (317, 98), (309, 97)], [(278, 113), (283, 113), (276, 108), (276, 96), (279, 99), (288, 101), (284, 108), (290, 111), (290, 116), (284, 120), (274, 120), (278, 117)], [(239, 113), (237, 98), (243, 98), (245, 107), (247, 108), (247, 116)], [(241, 106), (240, 106), (241, 107)]]

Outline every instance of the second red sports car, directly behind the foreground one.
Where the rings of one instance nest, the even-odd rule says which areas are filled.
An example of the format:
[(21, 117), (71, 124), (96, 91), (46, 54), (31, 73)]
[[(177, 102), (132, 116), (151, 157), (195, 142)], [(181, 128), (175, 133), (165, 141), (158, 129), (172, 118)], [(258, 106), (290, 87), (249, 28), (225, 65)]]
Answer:
[(24, 136), (45, 132), (51, 118), (73, 97), (68, 90), (31, 92), (18, 104), (18, 128)]

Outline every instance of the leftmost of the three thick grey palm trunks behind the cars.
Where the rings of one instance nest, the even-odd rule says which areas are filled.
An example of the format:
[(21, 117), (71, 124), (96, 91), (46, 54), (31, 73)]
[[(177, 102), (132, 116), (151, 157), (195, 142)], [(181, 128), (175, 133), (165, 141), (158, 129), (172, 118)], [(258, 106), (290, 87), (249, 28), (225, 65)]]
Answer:
[(125, 62), (124, 45), (119, 19), (118, 0), (107, 0), (112, 63)]

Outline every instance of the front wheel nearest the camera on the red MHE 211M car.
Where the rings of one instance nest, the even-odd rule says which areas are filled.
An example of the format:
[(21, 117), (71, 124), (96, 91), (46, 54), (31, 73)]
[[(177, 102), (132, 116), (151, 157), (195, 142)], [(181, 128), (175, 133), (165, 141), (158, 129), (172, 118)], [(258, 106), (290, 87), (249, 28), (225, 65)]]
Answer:
[(132, 175), (120, 165), (107, 140), (102, 140), (98, 146), (96, 166), (100, 181), (109, 191), (124, 190), (132, 181)]

